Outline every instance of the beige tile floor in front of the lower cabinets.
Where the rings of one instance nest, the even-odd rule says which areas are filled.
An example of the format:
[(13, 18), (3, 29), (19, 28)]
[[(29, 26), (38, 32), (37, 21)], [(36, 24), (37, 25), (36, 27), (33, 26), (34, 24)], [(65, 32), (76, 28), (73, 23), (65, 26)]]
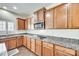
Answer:
[(34, 53), (30, 52), (27, 48), (25, 47), (20, 47), (19, 49), (19, 53), (17, 53), (14, 56), (36, 56)]

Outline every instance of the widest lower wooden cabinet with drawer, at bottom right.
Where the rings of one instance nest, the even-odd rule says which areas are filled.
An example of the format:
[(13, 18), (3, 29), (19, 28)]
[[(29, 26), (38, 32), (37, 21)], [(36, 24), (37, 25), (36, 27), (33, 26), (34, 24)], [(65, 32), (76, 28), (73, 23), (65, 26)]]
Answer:
[(75, 50), (55, 45), (55, 56), (75, 56)]

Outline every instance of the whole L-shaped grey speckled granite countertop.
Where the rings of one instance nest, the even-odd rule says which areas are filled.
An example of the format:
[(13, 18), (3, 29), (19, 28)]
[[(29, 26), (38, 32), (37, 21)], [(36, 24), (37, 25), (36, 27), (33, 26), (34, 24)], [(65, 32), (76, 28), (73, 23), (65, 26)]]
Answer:
[[(4, 39), (4, 38), (10, 38), (10, 37), (17, 37), (17, 36), (28, 36), (32, 39), (38, 39), (38, 40), (42, 40), (42, 41), (46, 41), (52, 44), (57, 44), (57, 45), (61, 45), (63, 47), (66, 48), (71, 48), (74, 50), (79, 50), (79, 40), (78, 39), (72, 39), (72, 38), (63, 38), (63, 37), (55, 37), (55, 36), (44, 36), (43, 35), (37, 35), (37, 34), (16, 34), (16, 35), (12, 35), (12, 36), (7, 36), (7, 37), (0, 37), (0, 39)], [(42, 38), (41, 38), (42, 37)]]

